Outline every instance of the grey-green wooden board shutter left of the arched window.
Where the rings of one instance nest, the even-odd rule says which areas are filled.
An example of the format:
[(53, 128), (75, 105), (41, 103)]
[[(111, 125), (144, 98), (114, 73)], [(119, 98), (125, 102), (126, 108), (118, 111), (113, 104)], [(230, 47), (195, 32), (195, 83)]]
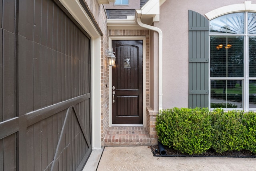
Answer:
[(208, 107), (209, 103), (209, 21), (188, 11), (189, 80), (188, 107)]

